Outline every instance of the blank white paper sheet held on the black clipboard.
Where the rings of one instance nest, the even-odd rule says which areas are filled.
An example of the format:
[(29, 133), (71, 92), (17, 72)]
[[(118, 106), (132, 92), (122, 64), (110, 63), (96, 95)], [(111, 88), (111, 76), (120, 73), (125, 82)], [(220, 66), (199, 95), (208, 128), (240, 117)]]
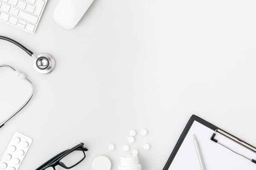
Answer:
[[(195, 121), (180, 146), (169, 170), (201, 170), (193, 135), (197, 137), (206, 170), (256, 170), (256, 164), (250, 160), (210, 140), (213, 132), (210, 128)], [(215, 139), (218, 139), (222, 144), (227, 145), (244, 156), (256, 159), (256, 153), (220, 134), (217, 134)]]

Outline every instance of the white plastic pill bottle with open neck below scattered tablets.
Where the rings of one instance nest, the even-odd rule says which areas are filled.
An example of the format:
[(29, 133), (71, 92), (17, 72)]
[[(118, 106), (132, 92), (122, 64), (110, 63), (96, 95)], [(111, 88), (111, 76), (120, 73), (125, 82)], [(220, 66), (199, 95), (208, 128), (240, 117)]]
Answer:
[(141, 170), (140, 161), (137, 155), (126, 155), (121, 157), (118, 170)]

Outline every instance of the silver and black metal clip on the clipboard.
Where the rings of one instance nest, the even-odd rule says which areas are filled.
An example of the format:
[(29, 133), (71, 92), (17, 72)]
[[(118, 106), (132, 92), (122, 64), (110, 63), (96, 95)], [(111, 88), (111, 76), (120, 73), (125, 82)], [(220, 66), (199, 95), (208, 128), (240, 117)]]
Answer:
[(250, 160), (250, 161), (252, 161), (253, 163), (256, 164), (256, 160), (255, 159), (250, 159), (247, 156), (244, 156), (244, 155), (234, 151), (230, 147), (227, 147), (226, 145), (222, 144), (217, 139), (214, 139), (215, 136), (216, 136), (216, 133), (219, 133), (219, 134), (223, 135), (224, 137), (227, 137), (228, 139), (231, 139), (233, 142), (236, 142), (237, 144), (240, 144), (241, 146), (247, 148), (248, 150), (250, 150), (250, 151), (252, 151), (254, 153), (256, 153), (256, 148), (255, 147), (251, 146), (250, 144), (245, 143), (241, 139), (238, 139), (238, 138), (236, 138), (236, 137), (234, 137), (234, 136), (232, 136), (232, 135), (230, 135), (230, 134), (228, 134), (228, 133), (226, 133), (226, 132), (224, 132), (223, 130), (220, 130), (220, 129), (216, 129), (215, 132), (212, 134), (212, 137), (211, 137), (211, 140), (213, 142), (216, 142), (216, 143), (220, 144), (221, 146), (226, 147), (227, 149), (231, 150), (233, 153), (236, 153), (236, 154), (244, 157), (245, 159), (248, 159), (248, 160)]

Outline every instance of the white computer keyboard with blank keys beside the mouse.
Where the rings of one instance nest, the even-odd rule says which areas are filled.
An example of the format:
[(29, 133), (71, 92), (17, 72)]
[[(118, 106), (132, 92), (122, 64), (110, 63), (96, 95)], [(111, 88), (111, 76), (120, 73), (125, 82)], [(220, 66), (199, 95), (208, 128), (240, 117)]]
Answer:
[(0, 21), (35, 33), (47, 0), (0, 0)]

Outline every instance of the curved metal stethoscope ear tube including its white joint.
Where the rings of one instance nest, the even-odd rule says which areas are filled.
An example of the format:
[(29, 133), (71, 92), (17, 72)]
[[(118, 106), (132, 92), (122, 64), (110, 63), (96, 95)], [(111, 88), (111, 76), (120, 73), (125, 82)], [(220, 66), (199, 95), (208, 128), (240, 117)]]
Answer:
[(17, 113), (19, 113), (19, 112), (29, 103), (30, 99), (32, 98), (32, 96), (33, 96), (33, 94), (34, 94), (34, 87), (33, 87), (33, 85), (32, 85), (32, 82), (31, 82), (29, 79), (26, 78), (26, 75), (25, 75), (25, 74), (23, 74), (23, 73), (20, 72), (20, 71), (15, 70), (14, 68), (12, 68), (12, 67), (9, 66), (9, 65), (0, 65), (0, 68), (1, 68), (1, 67), (10, 68), (12, 71), (15, 72), (15, 74), (16, 74), (18, 77), (20, 77), (21, 79), (24, 79), (24, 80), (26, 80), (27, 82), (29, 82), (32, 91), (31, 91), (31, 94), (30, 94), (29, 98), (26, 100), (26, 102), (25, 102), (20, 108), (18, 108), (17, 111), (15, 111), (11, 116), (9, 116), (5, 121), (3, 121), (2, 123), (0, 123), (0, 128), (3, 127), (3, 125), (5, 125), (6, 122), (8, 122), (10, 119), (12, 119), (13, 116), (15, 116)]

